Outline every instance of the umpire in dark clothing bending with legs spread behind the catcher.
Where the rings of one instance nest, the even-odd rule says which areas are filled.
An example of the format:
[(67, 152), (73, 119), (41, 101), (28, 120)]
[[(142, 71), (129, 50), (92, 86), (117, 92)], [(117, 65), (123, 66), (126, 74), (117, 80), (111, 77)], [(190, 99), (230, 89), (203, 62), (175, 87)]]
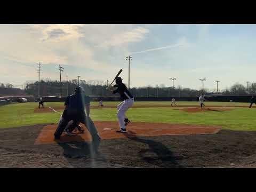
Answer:
[[(75, 89), (75, 94), (68, 95), (65, 101), (65, 110), (62, 114), (62, 119), (60, 120), (57, 130), (54, 133), (55, 139), (60, 139), (60, 135), (65, 129), (69, 121), (73, 120), (74, 125), (78, 122), (83, 123), (87, 130), (92, 136), (93, 144), (97, 145), (101, 140), (98, 130), (95, 127), (92, 119), (90, 118), (90, 98), (84, 94), (84, 90), (81, 86), (77, 86)], [(84, 111), (84, 106), (86, 109), (86, 115)]]

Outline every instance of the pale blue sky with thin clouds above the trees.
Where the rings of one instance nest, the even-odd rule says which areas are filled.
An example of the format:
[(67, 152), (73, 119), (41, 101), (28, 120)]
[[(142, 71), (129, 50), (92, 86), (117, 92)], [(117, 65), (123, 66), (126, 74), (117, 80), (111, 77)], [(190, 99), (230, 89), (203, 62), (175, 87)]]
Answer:
[(0, 25), (0, 82), (18, 87), (38, 79), (81, 76), (111, 82), (119, 71), (130, 86), (226, 89), (255, 82), (256, 25)]

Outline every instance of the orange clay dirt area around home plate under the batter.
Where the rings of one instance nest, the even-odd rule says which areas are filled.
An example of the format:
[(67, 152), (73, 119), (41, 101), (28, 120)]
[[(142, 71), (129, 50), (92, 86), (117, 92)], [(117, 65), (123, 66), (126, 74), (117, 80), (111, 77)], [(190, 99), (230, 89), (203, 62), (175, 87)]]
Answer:
[[(94, 122), (103, 140), (122, 139), (127, 137), (149, 137), (161, 135), (190, 135), (190, 134), (214, 134), (218, 133), (219, 126), (197, 126), (185, 124), (168, 124), (168, 123), (143, 123), (133, 122), (127, 127), (127, 133), (116, 133), (118, 130), (117, 122)], [(59, 142), (70, 141), (90, 141), (91, 136), (85, 126), (83, 134), (65, 135), (62, 134)], [(46, 125), (39, 133), (35, 144), (55, 143), (53, 133), (57, 125)]]

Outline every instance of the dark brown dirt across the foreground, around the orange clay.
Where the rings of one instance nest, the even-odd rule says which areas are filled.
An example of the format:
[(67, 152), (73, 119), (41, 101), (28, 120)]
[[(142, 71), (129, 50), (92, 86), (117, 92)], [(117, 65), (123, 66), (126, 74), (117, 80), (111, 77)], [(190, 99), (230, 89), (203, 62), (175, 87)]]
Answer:
[[(0, 167), (256, 167), (256, 132), (105, 139), (35, 145), (46, 125), (0, 129)], [(129, 125), (130, 126), (130, 125)]]

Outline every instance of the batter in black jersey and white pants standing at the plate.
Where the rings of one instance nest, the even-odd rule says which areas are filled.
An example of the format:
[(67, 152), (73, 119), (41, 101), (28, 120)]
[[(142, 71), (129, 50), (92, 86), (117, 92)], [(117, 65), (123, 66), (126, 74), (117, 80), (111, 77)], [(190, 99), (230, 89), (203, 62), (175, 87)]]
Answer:
[[(114, 87), (117, 89), (114, 90)], [(123, 84), (121, 77), (116, 77), (116, 85), (113, 87), (109, 85), (108, 89), (111, 90), (113, 94), (119, 93), (123, 100), (116, 107), (119, 122), (119, 131), (117, 131), (117, 133), (126, 133), (126, 126), (130, 123), (130, 120), (126, 117), (125, 113), (134, 103), (133, 95), (127, 90), (127, 87)]]

